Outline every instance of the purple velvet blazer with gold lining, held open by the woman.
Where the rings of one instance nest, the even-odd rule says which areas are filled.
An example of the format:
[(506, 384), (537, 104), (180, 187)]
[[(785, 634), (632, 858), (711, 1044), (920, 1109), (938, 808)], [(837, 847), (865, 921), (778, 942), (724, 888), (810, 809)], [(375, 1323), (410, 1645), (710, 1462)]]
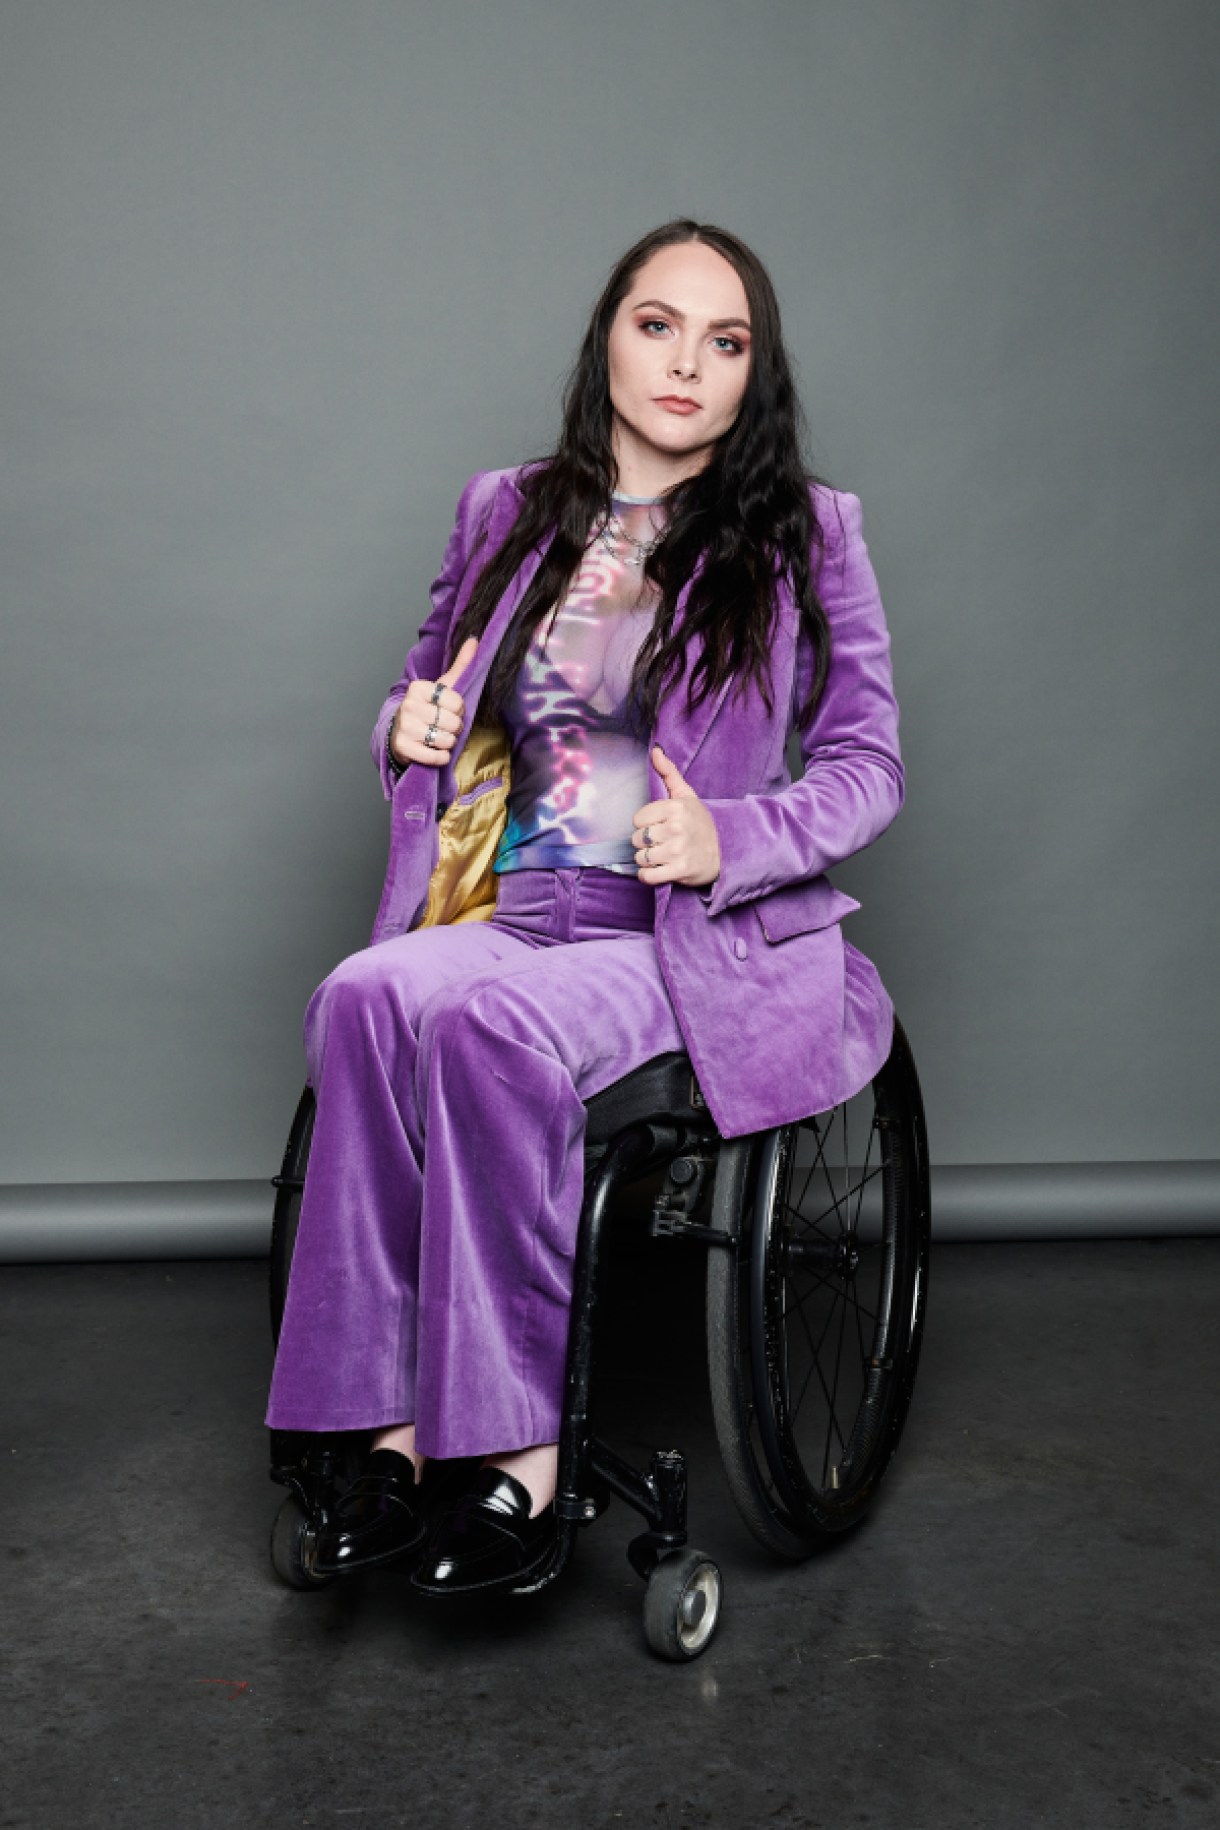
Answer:
[[(393, 809), (373, 942), (408, 931), (423, 915), (437, 862), (437, 803), (452, 798), (457, 754), (441, 769), (408, 769), (395, 785), (386, 761), (390, 721), (412, 679), (443, 672), (474, 580), (519, 512), (518, 474), (479, 472), (463, 490), (432, 611), (373, 728), (373, 758)], [(724, 1136), (790, 1124), (851, 1098), (882, 1067), (893, 1039), (893, 1005), (876, 968), (840, 931), (840, 919), (860, 904), (827, 877), (830, 866), (872, 844), (902, 807), (889, 631), (858, 498), (818, 485), (814, 503), (827, 538), (818, 591), (834, 646), (814, 725), (801, 737), (801, 780), (792, 781), (785, 748), (814, 655), (788, 595), (772, 650), (776, 714), (768, 717), (752, 684), (732, 703), (728, 686), (721, 688), (688, 717), (684, 675), (662, 701), (651, 739), (704, 800), (721, 842), (721, 875), (710, 891), (657, 888), (655, 935), (699, 1085)], [(466, 701), (466, 730), (538, 564), (530, 554), (521, 565), (474, 662), (454, 683)], [(649, 800), (664, 800), (651, 765)]]

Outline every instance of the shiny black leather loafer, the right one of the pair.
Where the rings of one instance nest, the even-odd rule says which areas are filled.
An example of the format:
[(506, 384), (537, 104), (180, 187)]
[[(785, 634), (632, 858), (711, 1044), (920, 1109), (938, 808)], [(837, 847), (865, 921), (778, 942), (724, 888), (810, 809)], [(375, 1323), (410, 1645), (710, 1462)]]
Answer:
[(530, 1519), (530, 1495), (514, 1475), (481, 1468), (441, 1513), (412, 1576), (428, 1596), (503, 1588), (538, 1576), (556, 1541), (554, 1506)]

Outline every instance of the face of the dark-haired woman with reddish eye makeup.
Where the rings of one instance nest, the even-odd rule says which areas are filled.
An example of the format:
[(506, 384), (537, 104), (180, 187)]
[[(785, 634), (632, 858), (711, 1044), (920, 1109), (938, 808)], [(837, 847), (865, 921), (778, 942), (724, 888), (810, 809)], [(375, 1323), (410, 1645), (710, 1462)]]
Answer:
[(702, 470), (750, 375), (737, 269), (704, 242), (658, 249), (615, 313), (607, 355), (620, 479), (646, 472), (675, 483)]

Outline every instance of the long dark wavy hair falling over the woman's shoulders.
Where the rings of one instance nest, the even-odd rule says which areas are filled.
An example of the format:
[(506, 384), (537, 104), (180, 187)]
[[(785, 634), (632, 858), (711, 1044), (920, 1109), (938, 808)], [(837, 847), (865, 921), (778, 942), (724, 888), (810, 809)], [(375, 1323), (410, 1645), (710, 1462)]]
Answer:
[[(640, 267), (675, 242), (704, 242), (737, 271), (750, 306), (750, 371), (737, 419), (712, 448), (706, 467), (666, 490), (666, 533), (644, 565), (660, 597), (635, 661), (629, 697), (642, 728), (651, 730), (660, 695), (682, 677), (686, 648), (699, 640), (688, 712), (735, 677), (737, 692), (757, 681), (772, 716), (776, 587), (787, 576), (816, 655), (810, 690), (796, 714), (801, 728), (818, 708), (830, 664), (830, 628), (814, 587), (814, 554), (821, 556), (825, 540), (810, 498), (816, 478), (801, 459), (801, 406), (776, 289), (757, 254), (737, 236), (679, 218), (629, 247), (605, 282), (563, 390), (560, 443), (521, 472), (521, 512), (483, 567), (452, 633), (450, 655), (466, 637), (483, 633), (525, 556), (547, 542), (488, 675), (485, 699), (492, 712), (508, 695), (534, 630), (567, 591), (596, 523), (609, 511), (616, 481), (609, 331)], [(675, 630), (677, 600), (690, 580), (686, 613)]]

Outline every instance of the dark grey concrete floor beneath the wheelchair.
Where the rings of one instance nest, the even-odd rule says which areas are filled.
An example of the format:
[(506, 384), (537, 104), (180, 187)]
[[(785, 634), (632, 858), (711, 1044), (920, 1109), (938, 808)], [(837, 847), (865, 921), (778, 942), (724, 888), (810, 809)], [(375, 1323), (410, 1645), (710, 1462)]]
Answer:
[(940, 1246), (882, 1501), (796, 1568), (722, 1488), (688, 1250), (615, 1349), (726, 1577), (680, 1667), (620, 1506), (532, 1603), (282, 1588), (262, 1265), (5, 1270), (0, 1825), (1215, 1825), (1220, 1241)]

